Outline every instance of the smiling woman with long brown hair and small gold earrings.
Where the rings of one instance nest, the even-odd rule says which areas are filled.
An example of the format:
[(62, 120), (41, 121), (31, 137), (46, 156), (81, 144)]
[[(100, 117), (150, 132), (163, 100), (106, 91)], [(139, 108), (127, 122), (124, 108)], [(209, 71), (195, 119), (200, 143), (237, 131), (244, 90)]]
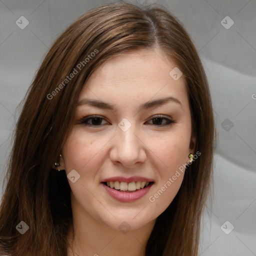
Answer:
[(90, 10), (54, 42), (18, 119), (7, 255), (197, 255), (214, 122), (191, 39), (159, 5)]

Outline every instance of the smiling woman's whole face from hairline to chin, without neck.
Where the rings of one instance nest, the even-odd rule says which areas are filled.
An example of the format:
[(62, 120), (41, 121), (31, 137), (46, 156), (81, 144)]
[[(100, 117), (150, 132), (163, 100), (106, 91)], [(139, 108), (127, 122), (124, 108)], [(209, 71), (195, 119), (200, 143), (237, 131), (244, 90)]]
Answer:
[(106, 61), (87, 80), (62, 148), (73, 214), (137, 229), (170, 204), (195, 142), (175, 66), (159, 50), (138, 50)]

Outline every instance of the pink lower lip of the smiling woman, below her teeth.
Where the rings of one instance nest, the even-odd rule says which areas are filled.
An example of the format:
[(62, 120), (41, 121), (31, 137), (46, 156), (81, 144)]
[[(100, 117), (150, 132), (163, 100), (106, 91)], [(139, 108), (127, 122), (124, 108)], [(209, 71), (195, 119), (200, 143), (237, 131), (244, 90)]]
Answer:
[(114, 188), (108, 187), (107, 185), (101, 183), (101, 185), (105, 188), (106, 192), (112, 196), (114, 199), (120, 202), (133, 202), (147, 194), (149, 189), (151, 188), (153, 183), (149, 184), (145, 188), (140, 188), (135, 192), (120, 192), (115, 190)]

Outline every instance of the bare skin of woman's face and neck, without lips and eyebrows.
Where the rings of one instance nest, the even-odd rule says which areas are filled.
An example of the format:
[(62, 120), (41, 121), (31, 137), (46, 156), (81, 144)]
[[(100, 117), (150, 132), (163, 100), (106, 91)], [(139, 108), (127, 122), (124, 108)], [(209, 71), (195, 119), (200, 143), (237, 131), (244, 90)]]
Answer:
[[(68, 256), (144, 255), (156, 217), (173, 200), (184, 173), (154, 201), (149, 196), (194, 153), (185, 80), (169, 75), (175, 66), (157, 49), (125, 53), (99, 66), (81, 90), (77, 102), (101, 100), (115, 109), (77, 105), (62, 148), (63, 169), (67, 174), (74, 169), (80, 175), (74, 183), (68, 179), (75, 231), (74, 236), (71, 228), (68, 232), (74, 252), (67, 246)], [(175, 99), (139, 109), (140, 104), (165, 97)], [(157, 114), (163, 117), (155, 120)], [(81, 122), (91, 115), (97, 115), (99, 125), (92, 119)], [(118, 127), (123, 118), (131, 124), (126, 131)], [(168, 120), (173, 122), (164, 125)], [(154, 181), (149, 192), (133, 202), (112, 198), (100, 183), (112, 176), (133, 175)], [(120, 230), (121, 223), (128, 223), (128, 232)]]

